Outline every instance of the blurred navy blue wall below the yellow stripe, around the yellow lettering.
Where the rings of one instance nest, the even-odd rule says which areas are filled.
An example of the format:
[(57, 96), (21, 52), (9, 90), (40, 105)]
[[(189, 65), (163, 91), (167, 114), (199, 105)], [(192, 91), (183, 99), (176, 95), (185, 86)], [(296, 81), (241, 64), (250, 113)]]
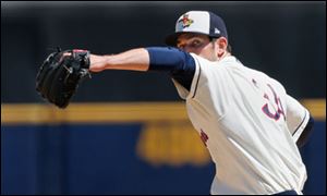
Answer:
[[(154, 166), (137, 154), (142, 131), (142, 123), (4, 125), (1, 194), (209, 194), (211, 162)], [(301, 154), (304, 194), (326, 193), (326, 122), (316, 122)]]

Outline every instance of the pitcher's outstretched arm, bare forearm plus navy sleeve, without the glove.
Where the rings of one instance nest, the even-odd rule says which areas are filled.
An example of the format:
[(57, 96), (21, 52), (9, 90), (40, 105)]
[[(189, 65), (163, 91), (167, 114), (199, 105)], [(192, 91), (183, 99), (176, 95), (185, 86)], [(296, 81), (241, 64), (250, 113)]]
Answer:
[(138, 48), (112, 56), (90, 54), (90, 71), (104, 70), (169, 72), (190, 90), (195, 61), (190, 53), (170, 47)]

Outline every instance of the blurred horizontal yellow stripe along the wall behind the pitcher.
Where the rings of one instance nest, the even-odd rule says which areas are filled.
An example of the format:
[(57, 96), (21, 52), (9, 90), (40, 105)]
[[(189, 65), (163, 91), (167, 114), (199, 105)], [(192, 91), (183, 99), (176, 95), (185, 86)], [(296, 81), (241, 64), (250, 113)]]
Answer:
[[(326, 120), (325, 99), (301, 101), (316, 120)], [(3, 103), (1, 124), (101, 123), (186, 120), (184, 102), (71, 103), (61, 110), (48, 103)]]

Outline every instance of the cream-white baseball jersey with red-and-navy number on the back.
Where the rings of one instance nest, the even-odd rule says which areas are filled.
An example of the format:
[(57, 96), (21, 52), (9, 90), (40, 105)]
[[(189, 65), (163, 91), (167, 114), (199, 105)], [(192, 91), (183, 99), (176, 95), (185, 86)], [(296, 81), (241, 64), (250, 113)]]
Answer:
[(276, 79), (232, 56), (210, 62), (191, 54), (190, 91), (173, 83), (216, 163), (211, 194), (302, 194), (306, 169), (295, 142), (308, 111)]

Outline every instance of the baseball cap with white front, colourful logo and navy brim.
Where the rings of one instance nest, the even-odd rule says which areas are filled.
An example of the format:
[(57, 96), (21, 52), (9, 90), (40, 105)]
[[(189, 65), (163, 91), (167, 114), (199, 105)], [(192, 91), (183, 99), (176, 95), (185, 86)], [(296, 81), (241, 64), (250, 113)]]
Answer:
[(175, 47), (178, 37), (184, 33), (196, 33), (218, 38), (226, 37), (227, 28), (221, 17), (208, 11), (189, 11), (175, 22), (175, 30), (166, 37), (166, 45)]

